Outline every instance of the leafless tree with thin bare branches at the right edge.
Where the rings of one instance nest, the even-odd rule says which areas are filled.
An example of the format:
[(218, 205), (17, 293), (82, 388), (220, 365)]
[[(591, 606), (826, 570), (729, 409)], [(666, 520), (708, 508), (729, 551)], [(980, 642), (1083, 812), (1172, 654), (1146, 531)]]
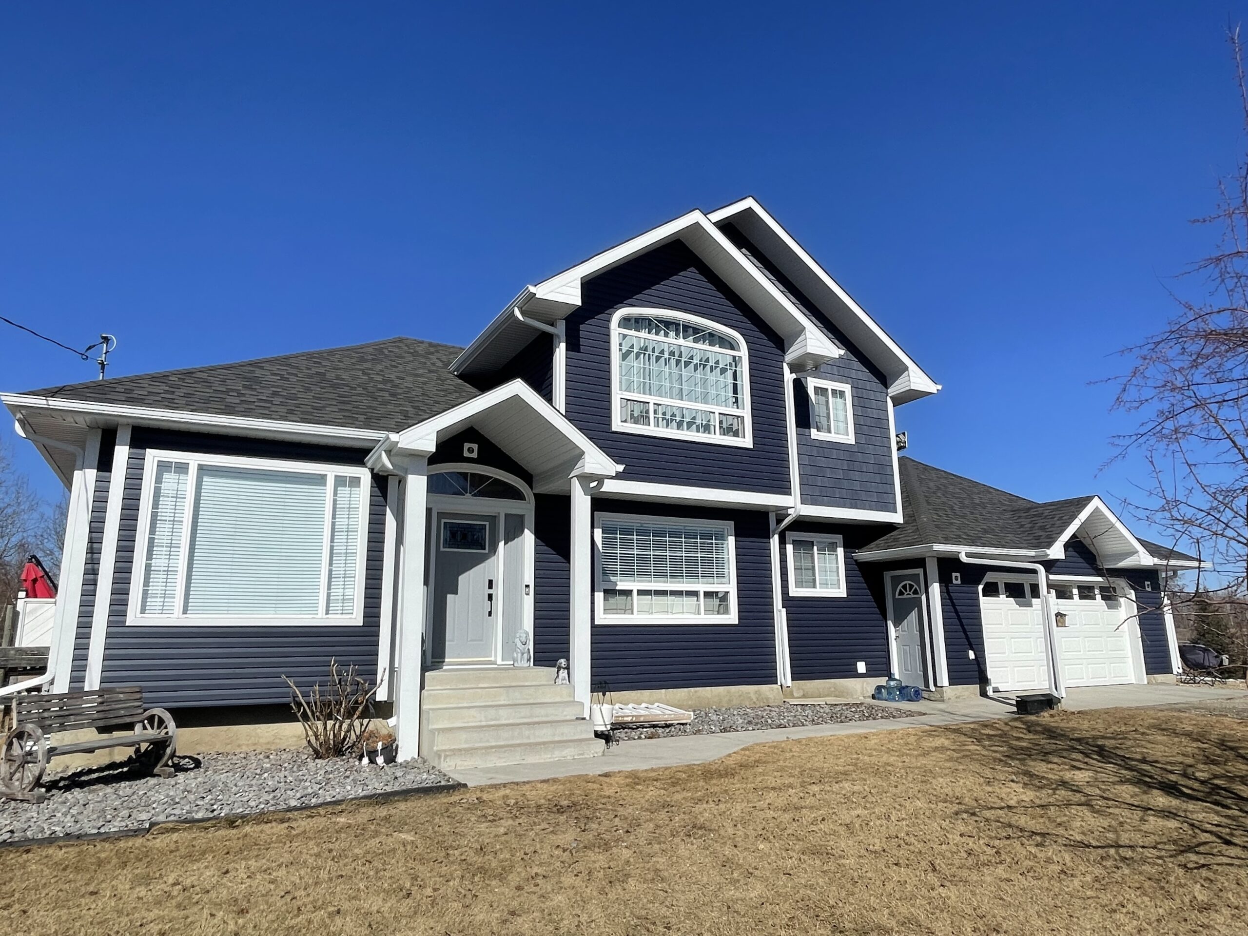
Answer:
[[(1219, 182), (1217, 210), (1193, 222), (1212, 226), (1217, 246), (1182, 275), (1202, 285), (1196, 297), (1172, 291), (1178, 312), (1124, 349), (1132, 366), (1114, 401), (1139, 419), (1116, 439), (1116, 458), (1144, 466), (1127, 510), (1209, 564), (1187, 594), (1218, 613), (1248, 607), (1248, 82), (1238, 26), (1227, 39), (1246, 150)], [(1233, 655), (1242, 661), (1246, 650)]]

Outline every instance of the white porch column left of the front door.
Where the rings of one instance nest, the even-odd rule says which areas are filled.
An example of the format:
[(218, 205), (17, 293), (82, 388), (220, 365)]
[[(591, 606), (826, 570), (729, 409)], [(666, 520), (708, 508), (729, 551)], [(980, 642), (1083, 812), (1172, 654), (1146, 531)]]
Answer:
[(398, 693), (394, 698), (398, 759), (421, 754), (421, 660), (424, 644), (424, 510), (428, 454), (408, 456), (403, 492), (403, 565), (398, 618)]

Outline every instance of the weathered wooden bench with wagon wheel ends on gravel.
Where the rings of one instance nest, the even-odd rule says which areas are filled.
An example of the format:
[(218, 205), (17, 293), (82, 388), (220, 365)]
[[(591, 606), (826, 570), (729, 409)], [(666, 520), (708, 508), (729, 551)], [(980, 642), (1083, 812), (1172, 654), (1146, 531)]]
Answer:
[[(158, 776), (173, 775), (168, 766), (177, 744), (173, 716), (165, 709), (145, 709), (144, 691), (137, 686), (15, 695), (10, 724), (14, 728), (0, 749), (0, 794), (10, 799), (41, 802), (45, 794), (35, 787), (47, 761), (62, 754), (134, 748), (141, 768)], [(101, 735), (71, 744), (49, 743), (49, 736), (57, 731), (126, 724), (134, 725), (132, 734)]]

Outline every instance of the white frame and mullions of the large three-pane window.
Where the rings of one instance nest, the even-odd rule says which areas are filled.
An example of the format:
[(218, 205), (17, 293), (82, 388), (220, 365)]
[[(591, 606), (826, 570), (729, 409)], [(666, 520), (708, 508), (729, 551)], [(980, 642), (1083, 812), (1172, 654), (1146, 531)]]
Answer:
[[(173, 614), (144, 614), (144, 557), (147, 552), (147, 535), (151, 523), (152, 495), (155, 493), (156, 463), (185, 462), (188, 466), (186, 478), (186, 504), (182, 520), (182, 545), (180, 552), (177, 598)], [(327, 475), (326, 482), (326, 543), (321, 558), (321, 594), (317, 598), (317, 614), (300, 617), (222, 617), (186, 614), (186, 580), (188, 573), (187, 558), (191, 543), (191, 520), (195, 515), (195, 490), (201, 467), (210, 468), (251, 468), (255, 470), (273, 470), (285, 473), (305, 473)], [(356, 600), (353, 614), (326, 614), (326, 588), (328, 584), (328, 537), (333, 519), (333, 477), (359, 478), (359, 543), (356, 547)], [(368, 514), (372, 500), (372, 477), (367, 468), (346, 464), (322, 464), (316, 462), (287, 462), (276, 458), (248, 458), (241, 456), (211, 456), (196, 452), (172, 452), (166, 449), (147, 449), (144, 458), (144, 484), (139, 525), (136, 528), (134, 563), (130, 580), (130, 604), (126, 624), (130, 626), (157, 628), (282, 628), (282, 626), (362, 626), (364, 623), (364, 572), (368, 564)]]

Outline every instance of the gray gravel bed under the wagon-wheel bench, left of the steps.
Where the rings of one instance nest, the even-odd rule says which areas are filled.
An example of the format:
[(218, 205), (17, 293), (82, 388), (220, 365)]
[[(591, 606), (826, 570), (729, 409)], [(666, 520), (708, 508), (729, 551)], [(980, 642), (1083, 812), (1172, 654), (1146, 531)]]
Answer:
[(182, 755), (173, 768), (168, 779), (125, 763), (49, 770), (44, 802), (0, 800), (0, 842), (146, 829), (154, 821), (267, 812), (454, 782), (421, 759), (377, 766), (348, 758), (313, 760), (303, 750)]

